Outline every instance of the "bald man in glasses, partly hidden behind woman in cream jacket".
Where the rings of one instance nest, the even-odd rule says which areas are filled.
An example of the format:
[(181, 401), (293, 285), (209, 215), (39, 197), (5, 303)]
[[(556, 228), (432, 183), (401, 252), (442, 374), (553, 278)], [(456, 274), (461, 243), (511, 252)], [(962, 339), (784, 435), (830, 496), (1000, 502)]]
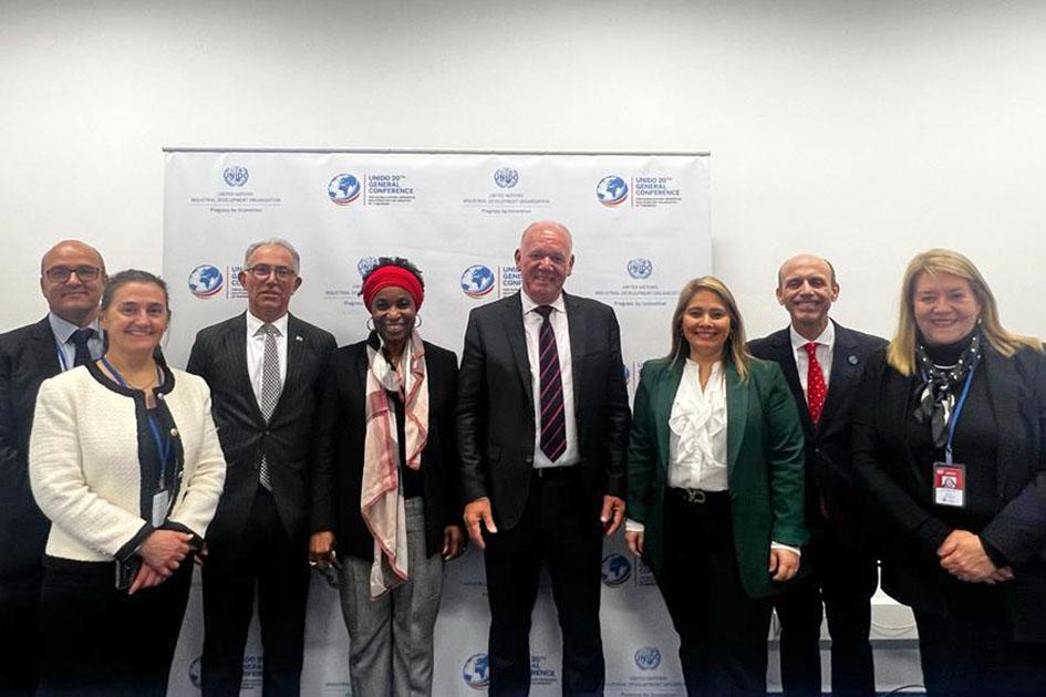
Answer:
[(105, 262), (77, 240), (40, 262), (45, 318), (0, 335), (0, 696), (32, 695), (41, 560), (50, 523), (29, 488), (29, 434), (40, 383), (102, 355)]

